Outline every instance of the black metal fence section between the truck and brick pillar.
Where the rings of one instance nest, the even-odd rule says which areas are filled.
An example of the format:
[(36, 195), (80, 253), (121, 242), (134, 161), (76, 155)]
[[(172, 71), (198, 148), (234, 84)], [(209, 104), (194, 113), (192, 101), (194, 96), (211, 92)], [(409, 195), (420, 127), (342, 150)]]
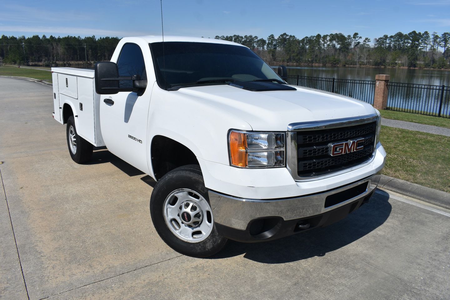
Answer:
[(288, 83), (324, 90), (374, 104), (375, 81), (289, 75)]

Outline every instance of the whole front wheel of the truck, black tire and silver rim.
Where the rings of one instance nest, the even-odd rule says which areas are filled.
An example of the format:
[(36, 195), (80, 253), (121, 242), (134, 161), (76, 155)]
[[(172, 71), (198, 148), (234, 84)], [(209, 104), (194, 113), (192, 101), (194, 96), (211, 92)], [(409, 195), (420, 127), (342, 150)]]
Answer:
[(164, 175), (153, 189), (150, 214), (159, 236), (181, 254), (211, 256), (227, 241), (214, 225), (199, 166), (182, 166)]

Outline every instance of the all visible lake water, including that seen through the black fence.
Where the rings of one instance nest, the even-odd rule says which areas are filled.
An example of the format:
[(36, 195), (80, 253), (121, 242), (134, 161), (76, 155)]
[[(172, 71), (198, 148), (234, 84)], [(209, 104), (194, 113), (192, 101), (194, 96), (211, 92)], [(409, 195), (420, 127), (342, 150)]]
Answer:
[[(277, 70), (275, 67), (274, 69)], [(289, 76), (334, 77), (335, 93), (371, 104), (374, 102), (374, 83), (354, 83), (346, 80), (374, 81), (377, 74), (391, 75), (387, 97), (387, 106), (390, 109), (429, 115), (440, 113), (441, 116), (450, 117), (450, 71), (374, 67), (288, 67)], [(290, 77), (288, 82), (296, 84), (295, 77)], [(332, 91), (331, 80), (301, 77), (299, 85)], [(446, 86), (443, 94), (441, 85)]]

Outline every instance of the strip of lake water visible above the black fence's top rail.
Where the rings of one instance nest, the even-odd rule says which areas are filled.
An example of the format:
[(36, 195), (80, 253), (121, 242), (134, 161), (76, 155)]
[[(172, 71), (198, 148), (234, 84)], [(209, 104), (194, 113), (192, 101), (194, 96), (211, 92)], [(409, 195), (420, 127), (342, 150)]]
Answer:
[[(277, 66), (278, 67), (278, 66)], [(275, 71), (277, 67), (274, 66)], [(450, 86), (450, 71), (376, 67), (288, 67), (288, 75), (337, 79), (375, 80), (377, 74), (391, 75), (391, 81)]]

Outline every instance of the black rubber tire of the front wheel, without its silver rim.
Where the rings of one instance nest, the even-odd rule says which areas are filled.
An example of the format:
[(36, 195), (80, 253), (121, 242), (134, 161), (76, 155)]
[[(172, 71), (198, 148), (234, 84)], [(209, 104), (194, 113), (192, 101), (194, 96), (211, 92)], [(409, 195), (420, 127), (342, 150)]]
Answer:
[(217, 233), (216, 225), (213, 221), (211, 233), (201, 242), (185, 242), (181, 240), (175, 233), (172, 233), (166, 224), (164, 217), (166, 198), (175, 190), (183, 188), (190, 189), (201, 195), (209, 206), (208, 189), (205, 188), (200, 167), (188, 165), (176, 168), (164, 175), (153, 189), (150, 197), (150, 215), (153, 225), (164, 242), (181, 254), (193, 257), (214, 255), (225, 246), (227, 239)]

